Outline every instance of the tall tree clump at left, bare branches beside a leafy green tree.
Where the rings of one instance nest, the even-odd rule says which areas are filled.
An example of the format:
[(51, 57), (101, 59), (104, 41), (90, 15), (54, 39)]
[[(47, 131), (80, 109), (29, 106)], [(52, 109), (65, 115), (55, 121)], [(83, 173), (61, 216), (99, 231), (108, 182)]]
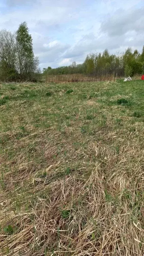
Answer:
[(32, 37), (27, 23), (15, 33), (0, 31), (0, 80), (37, 80), (39, 60), (34, 57)]

